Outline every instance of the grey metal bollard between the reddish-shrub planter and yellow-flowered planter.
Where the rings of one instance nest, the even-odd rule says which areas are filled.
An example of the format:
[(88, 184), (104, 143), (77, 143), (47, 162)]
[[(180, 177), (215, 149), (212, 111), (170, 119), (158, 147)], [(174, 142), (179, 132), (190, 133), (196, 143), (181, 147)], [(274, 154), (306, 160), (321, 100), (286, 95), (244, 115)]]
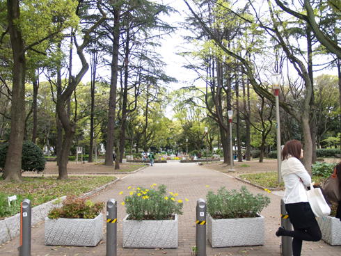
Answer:
[(106, 256), (117, 253), (117, 202), (111, 198), (106, 202)]

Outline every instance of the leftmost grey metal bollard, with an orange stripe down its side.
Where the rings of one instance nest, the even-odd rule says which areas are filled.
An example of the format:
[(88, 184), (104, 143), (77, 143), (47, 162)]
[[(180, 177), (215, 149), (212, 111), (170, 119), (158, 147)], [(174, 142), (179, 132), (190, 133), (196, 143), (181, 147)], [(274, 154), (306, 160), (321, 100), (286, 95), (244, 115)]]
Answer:
[(31, 256), (31, 208), (31, 201), (29, 199), (22, 200), (19, 256)]

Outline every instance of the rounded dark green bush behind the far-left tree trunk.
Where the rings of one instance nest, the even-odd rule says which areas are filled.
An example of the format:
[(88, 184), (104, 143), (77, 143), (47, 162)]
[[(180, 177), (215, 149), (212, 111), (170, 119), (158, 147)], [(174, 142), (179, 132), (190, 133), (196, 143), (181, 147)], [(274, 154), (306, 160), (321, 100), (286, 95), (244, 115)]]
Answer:
[[(6, 156), (8, 152), (8, 143), (0, 147), (0, 168), (5, 167)], [(24, 141), (22, 145), (22, 170), (37, 171), (45, 170), (46, 159), (42, 149), (31, 141)]]

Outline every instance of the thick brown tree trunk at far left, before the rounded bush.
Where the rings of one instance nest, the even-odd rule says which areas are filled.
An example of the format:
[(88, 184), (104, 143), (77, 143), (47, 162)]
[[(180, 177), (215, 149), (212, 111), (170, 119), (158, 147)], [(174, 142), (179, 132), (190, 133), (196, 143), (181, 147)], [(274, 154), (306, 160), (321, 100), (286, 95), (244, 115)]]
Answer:
[(7, 181), (22, 180), (22, 143), (25, 122), (26, 58), (22, 33), (16, 23), (20, 19), (18, 0), (7, 1), (8, 28), (13, 51), (12, 119), (3, 177)]

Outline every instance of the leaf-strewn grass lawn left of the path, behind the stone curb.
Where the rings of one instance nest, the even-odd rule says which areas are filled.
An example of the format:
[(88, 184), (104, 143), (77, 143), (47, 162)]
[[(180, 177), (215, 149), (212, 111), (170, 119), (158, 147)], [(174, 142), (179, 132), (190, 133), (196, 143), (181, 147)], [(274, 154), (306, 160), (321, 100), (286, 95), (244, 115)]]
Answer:
[[(116, 179), (113, 176), (78, 176), (60, 180), (55, 177), (24, 177), (24, 182), (3, 182), (0, 180), (0, 219), (20, 212), (20, 204), (25, 198), (31, 200), (32, 207), (54, 200), (63, 195), (80, 196), (93, 191)], [(10, 202), (8, 196), (17, 195), (17, 200)]]

